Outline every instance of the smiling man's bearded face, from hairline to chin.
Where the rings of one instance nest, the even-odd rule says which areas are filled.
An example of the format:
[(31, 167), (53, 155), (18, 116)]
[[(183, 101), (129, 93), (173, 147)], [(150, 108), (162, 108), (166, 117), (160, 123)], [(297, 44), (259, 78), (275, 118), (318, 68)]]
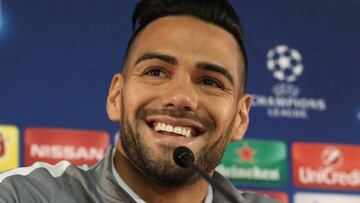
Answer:
[(120, 151), (163, 185), (196, 180), (173, 162), (178, 146), (190, 148), (196, 163), (212, 172), (248, 124), (243, 58), (232, 35), (192, 17), (160, 18), (139, 34), (126, 64), (124, 81), (113, 80), (120, 92)]

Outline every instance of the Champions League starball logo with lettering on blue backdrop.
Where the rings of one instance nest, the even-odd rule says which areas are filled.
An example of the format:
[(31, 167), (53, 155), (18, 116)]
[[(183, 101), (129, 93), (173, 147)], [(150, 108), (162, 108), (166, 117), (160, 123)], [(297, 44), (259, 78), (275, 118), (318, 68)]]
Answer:
[(324, 98), (301, 97), (301, 89), (293, 84), (304, 72), (298, 50), (278, 45), (269, 50), (266, 65), (280, 83), (272, 87), (272, 95), (252, 94), (253, 107), (266, 108), (268, 117), (290, 119), (308, 119), (309, 111), (327, 109)]

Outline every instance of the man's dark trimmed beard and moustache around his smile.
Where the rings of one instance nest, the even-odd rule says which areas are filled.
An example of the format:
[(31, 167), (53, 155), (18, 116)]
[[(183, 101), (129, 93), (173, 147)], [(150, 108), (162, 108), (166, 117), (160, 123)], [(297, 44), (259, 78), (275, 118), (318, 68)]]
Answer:
[[(173, 117), (187, 117), (194, 120), (200, 120), (194, 115), (187, 115), (187, 112), (174, 112), (168, 110), (140, 110), (136, 117), (135, 128), (132, 128), (127, 115), (122, 108), (121, 119), (121, 144), (129, 158), (129, 161), (150, 181), (157, 185), (166, 187), (178, 187), (182, 185), (189, 185), (196, 182), (200, 177), (191, 169), (184, 169), (178, 167), (172, 160), (173, 150), (168, 149), (169, 154), (156, 159), (151, 149), (146, 145), (144, 139), (142, 139), (139, 132), (134, 129), (138, 129), (139, 122), (147, 115), (161, 114), (170, 115)], [(226, 132), (211, 146), (205, 145), (195, 154), (195, 163), (205, 172), (210, 173), (220, 163), (220, 160), (224, 154), (226, 145), (229, 140), (228, 133), (233, 128), (233, 121), (230, 123)], [(212, 121), (202, 121), (208, 129), (214, 128)], [(211, 126), (209, 126), (211, 125)]]

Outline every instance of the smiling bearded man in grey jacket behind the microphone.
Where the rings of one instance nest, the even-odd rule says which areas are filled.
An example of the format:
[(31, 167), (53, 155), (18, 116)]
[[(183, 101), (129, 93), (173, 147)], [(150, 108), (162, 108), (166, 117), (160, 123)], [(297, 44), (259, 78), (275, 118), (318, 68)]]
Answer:
[[(121, 135), (99, 164), (43, 163), (0, 176), (0, 202), (229, 202), (173, 151), (195, 163), (239, 202), (274, 202), (241, 193), (214, 171), (227, 144), (249, 123), (246, 54), (226, 0), (143, 0), (134, 12), (123, 72), (107, 98)], [(136, 24), (138, 23), (138, 25)]]

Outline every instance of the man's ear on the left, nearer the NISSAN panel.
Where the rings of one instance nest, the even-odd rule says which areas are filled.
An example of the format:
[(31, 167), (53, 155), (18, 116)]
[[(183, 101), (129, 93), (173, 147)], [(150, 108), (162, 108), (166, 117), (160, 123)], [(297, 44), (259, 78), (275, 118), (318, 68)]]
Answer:
[(123, 85), (122, 75), (120, 73), (115, 74), (106, 99), (106, 111), (112, 121), (120, 121), (121, 119), (121, 91)]

